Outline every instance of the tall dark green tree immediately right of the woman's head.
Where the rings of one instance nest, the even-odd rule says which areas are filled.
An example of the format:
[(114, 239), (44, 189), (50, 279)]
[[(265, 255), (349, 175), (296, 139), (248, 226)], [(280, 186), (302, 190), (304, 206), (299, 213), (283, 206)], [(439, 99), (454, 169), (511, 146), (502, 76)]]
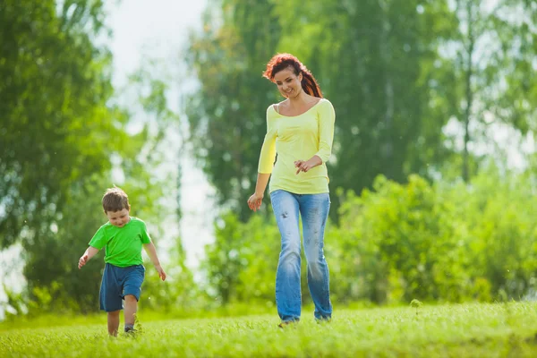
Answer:
[[(282, 43), (314, 38), (304, 61), (316, 64), (336, 107), (331, 187), (361, 192), (379, 174), (397, 182), (411, 173), (429, 175), (430, 166), (447, 155), (445, 107), (433, 103), (437, 92), (443, 94), (439, 77), (449, 65), (440, 61), (439, 47), (455, 29), (446, 2), (325, 1), (296, 4), (294, 12), (284, 7), (282, 23), (292, 27)], [(299, 14), (303, 21), (291, 21)]]

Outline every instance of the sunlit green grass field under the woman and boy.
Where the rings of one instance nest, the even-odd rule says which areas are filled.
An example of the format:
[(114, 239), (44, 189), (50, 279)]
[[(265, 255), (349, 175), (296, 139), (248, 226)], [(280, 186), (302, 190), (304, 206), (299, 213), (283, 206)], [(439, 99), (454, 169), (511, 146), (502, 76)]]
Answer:
[(423, 306), (417, 314), (412, 307), (337, 310), (323, 324), (307, 311), (295, 327), (277, 323), (276, 314), (144, 321), (141, 312), (140, 334), (116, 338), (95, 320), (38, 328), (28, 323), (0, 330), (0, 356), (537, 356), (537, 303)]

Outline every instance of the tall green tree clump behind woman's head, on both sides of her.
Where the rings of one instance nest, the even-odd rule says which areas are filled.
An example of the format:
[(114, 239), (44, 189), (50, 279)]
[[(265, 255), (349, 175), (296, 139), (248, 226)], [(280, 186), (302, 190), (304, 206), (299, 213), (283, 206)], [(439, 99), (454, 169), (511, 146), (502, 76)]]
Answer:
[[(456, 30), (445, 1), (215, 4), (202, 34), (191, 38), (188, 59), (200, 87), (186, 109), (219, 204), (241, 220), (250, 215), (243, 202), (256, 180), (265, 109), (279, 100), (260, 78), (276, 52), (298, 55), (336, 107), (332, 187), (360, 192), (379, 174), (403, 182), (411, 173), (429, 175), (445, 158), (439, 80), (450, 64), (438, 48)], [(332, 202), (337, 208), (339, 198)]]

